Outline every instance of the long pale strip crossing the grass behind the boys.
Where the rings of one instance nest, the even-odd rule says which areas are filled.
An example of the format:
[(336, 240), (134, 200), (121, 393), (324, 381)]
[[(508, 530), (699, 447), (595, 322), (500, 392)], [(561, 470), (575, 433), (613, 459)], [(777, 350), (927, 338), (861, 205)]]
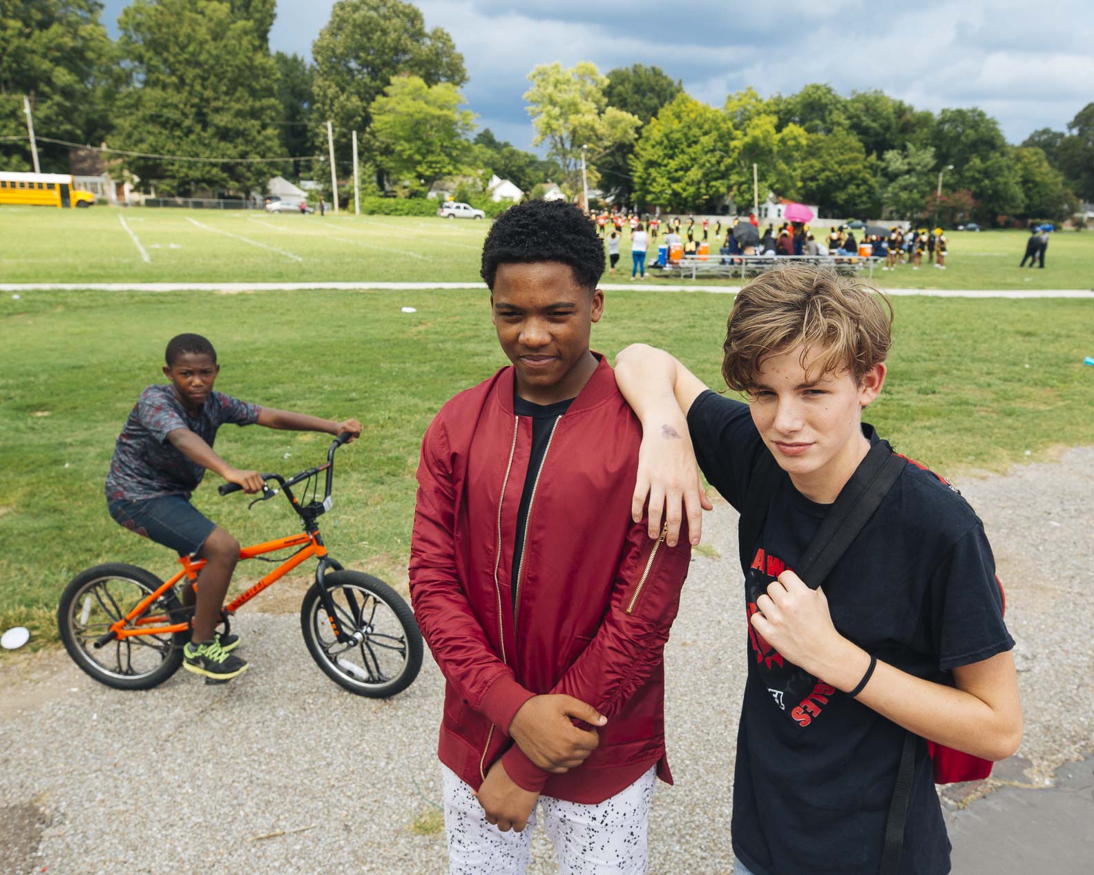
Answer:
[[(608, 292), (705, 292), (736, 294), (740, 285), (639, 285), (601, 283)], [(430, 291), (485, 290), (482, 282), (7, 282), (0, 292), (89, 291), (89, 292), (303, 292), (303, 291)], [(898, 298), (1047, 299), (1070, 298), (1094, 301), (1094, 289), (883, 289)]]

